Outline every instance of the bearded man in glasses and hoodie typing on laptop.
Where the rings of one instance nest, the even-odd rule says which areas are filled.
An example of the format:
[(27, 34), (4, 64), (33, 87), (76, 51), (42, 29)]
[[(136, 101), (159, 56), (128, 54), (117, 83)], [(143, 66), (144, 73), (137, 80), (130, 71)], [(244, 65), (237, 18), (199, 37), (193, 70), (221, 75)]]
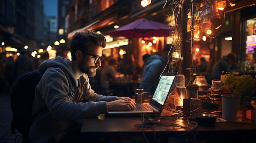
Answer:
[[(36, 86), (32, 114), (37, 116), (30, 128), (30, 143), (90, 142), (80, 136), (84, 118), (97, 117), (108, 110), (135, 108), (129, 97), (98, 95), (91, 89), (88, 77), (94, 77), (101, 66), (105, 46), (102, 34), (79, 31), (70, 44), (72, 61), (57, 56), (40, 64), (38, 70), (43, 77)], [(69, 79), (73, 80), (72, 89)]]

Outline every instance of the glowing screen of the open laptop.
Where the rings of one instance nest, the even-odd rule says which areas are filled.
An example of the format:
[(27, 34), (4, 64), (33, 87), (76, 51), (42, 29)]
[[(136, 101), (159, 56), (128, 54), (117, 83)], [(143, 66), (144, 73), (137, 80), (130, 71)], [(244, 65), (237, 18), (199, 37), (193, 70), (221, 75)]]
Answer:
[(164, 102), (169, 94), (173, 81), (177, 73), (163, 73), (155, 93), (153, 95), (153, 100), (161, 105), (164, 105)]

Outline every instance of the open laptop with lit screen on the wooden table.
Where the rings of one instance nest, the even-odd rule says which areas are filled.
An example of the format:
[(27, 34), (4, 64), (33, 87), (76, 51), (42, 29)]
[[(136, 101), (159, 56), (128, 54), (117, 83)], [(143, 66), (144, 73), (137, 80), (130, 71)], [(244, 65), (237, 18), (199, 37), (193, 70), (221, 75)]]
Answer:
[[(160, 80), (157, 84), (157, 88), (155, 90), (155, 93), (150, 100), (150, 103), (139, 103), (142, 106), (150, 106), (152, 110), (128, 110), (128, 111), (109, 111), (107, 114), (105, 114), (106, 117), (135, 117), (140, 116), (142, 113), (148, 113), (148, 112), (155, 112), (155, 113), (161, 113), (164, 104), (166, 102), (166, 99), (168, 98), (169, 93), (171, 92), (171, 89), (173, 87), (173, 83), (175, 81), (175, 78), (177, 76), (177, 72), (175, 73), (163, 73), (160, 77)], [(138, 106), (139, 104), (136, 104)]]

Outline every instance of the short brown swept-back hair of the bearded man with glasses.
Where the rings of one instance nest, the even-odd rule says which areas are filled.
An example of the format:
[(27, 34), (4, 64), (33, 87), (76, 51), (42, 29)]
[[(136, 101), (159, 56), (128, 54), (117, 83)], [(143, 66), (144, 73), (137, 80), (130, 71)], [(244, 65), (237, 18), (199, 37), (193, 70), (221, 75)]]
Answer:
[(101, 46), (105, 48), (106, 38), (101, 33), (93, 30), (85, 30), (76, 32), (70, 43), (70, 53), (72, 60), (76, 60), (75, 53), (80, 50), (83, 53), (92, 51), (92, 46)]

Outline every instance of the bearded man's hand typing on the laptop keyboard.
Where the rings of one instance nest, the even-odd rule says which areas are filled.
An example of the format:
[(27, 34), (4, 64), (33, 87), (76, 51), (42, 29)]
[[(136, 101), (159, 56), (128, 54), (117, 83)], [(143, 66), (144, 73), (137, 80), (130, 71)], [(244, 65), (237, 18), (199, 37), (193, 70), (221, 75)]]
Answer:
[(117, 100), (107, 102), (107, 108), (109, 111), (134, 110), (135, 104), (129, 97), (117, 97)]

